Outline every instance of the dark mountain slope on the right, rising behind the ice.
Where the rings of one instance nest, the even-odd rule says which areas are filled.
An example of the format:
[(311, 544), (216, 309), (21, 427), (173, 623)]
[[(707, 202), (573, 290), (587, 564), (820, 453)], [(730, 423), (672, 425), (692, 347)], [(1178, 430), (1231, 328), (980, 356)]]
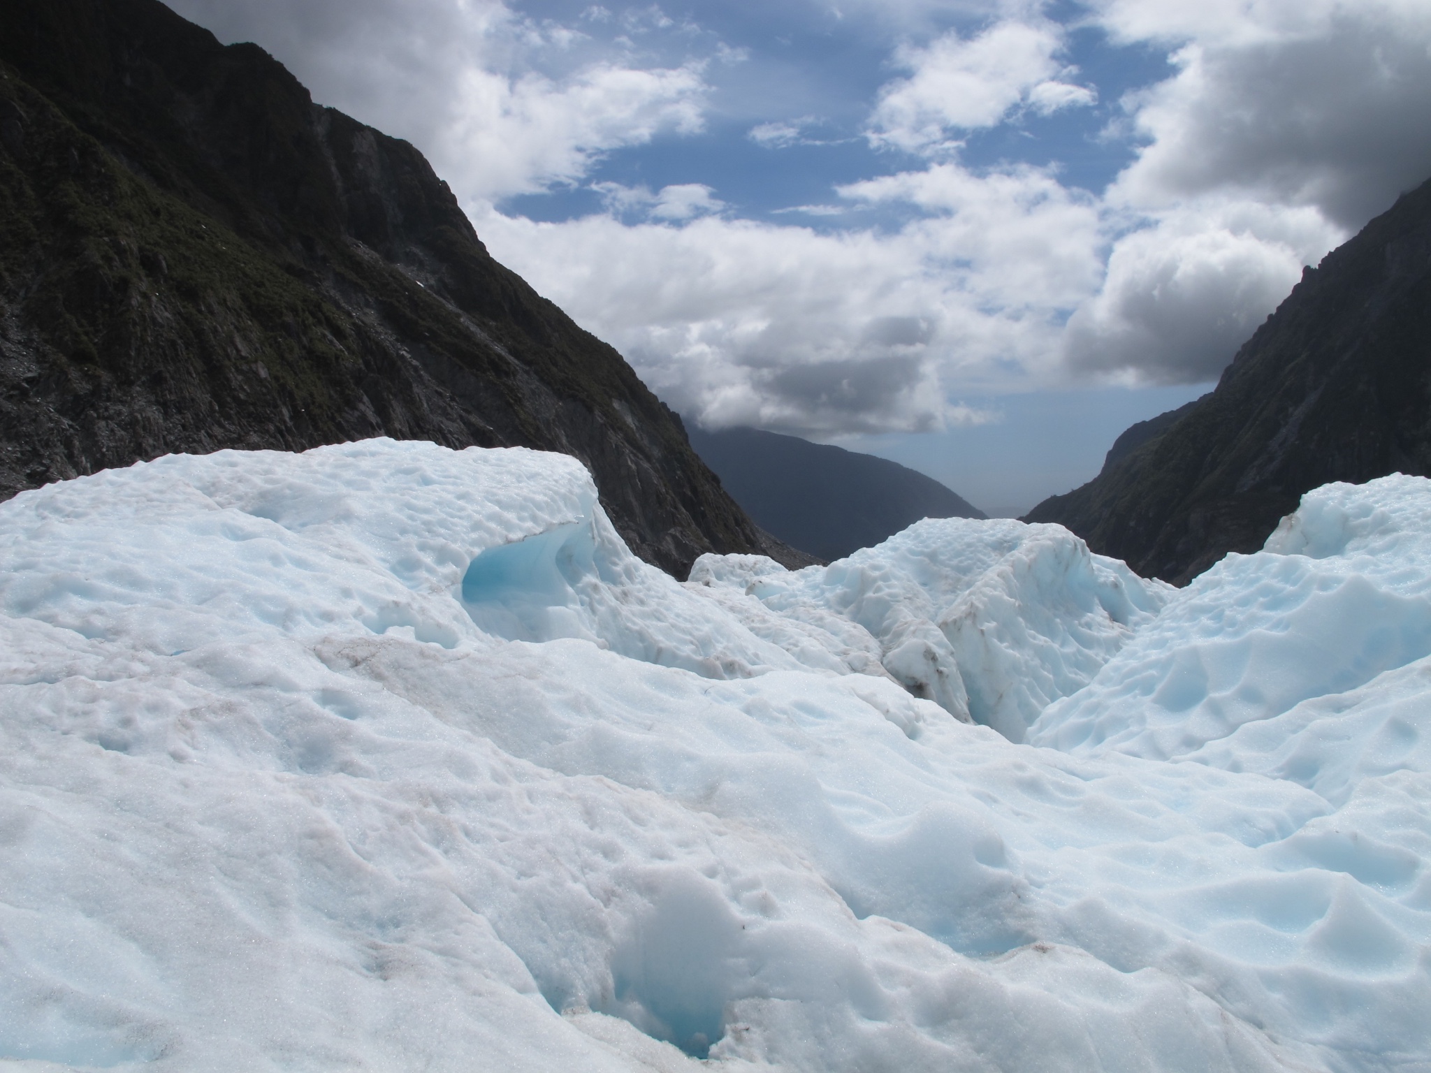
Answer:
[(1397, 471), (1431, 475), (1431, 182), (1308, 268), (1213, 392), (1128, 429), (1025, 521), (1185, 584), (1261, 548), (1304, 492)]

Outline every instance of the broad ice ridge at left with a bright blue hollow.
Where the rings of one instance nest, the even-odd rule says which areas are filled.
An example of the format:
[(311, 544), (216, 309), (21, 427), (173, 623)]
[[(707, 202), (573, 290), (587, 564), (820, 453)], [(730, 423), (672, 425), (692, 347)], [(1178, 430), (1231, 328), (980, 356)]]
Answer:
[(801, 665), (631, 555), (580, 462), (521, 448), (170, 455), (17, 496), (0, 548), (9, 614), (152, 652), (336, 629), (580, 637), (718, 678)]

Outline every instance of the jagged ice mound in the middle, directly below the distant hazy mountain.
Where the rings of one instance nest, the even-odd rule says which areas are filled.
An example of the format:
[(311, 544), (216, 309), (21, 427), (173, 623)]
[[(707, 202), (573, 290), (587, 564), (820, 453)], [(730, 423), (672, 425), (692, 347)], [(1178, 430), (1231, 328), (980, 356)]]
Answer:
[[(969, 518), (924, 519), (797, 574), (760, 557), (704, 555), (691, 581), (724, 591), (723, 607), (763, 637), (781, 637), (757, 625), (773, 611), (786, 631), (831, 638), (851, 670), (869, 672), (877, 654), (914, 695), (1010, 741), (1088, 684), (1173, 591), (1092, 555), (1062, 525)], [(743, 607), (733, 591), (751, 599)]]

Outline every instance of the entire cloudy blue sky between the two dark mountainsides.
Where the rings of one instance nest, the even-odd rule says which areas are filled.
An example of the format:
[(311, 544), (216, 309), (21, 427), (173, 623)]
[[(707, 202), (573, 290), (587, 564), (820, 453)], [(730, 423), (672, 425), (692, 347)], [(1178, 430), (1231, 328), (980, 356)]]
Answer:
[(1427, 0), (170, 0), (707, 428), (1017, 515), (1431, 177)]

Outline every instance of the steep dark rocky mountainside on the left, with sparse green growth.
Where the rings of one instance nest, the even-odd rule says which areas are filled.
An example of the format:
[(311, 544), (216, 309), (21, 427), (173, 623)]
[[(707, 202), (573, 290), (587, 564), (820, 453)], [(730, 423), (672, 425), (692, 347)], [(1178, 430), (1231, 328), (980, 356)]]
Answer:
[(0, 6), (0, 496), (391, 435), (591, 469), (633, 551), (776, 551), (406, 142), (156, 0)]

